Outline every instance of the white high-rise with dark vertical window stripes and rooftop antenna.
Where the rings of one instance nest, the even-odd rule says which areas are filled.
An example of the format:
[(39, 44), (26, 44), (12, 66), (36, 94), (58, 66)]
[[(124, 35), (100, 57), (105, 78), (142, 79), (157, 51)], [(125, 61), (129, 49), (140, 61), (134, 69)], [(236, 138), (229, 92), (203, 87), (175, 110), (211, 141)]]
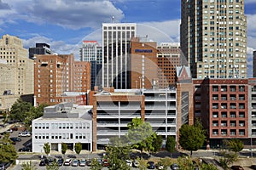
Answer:
[(128, 88), (128, 62), (134, 23), (102, 24), (102, 87)]

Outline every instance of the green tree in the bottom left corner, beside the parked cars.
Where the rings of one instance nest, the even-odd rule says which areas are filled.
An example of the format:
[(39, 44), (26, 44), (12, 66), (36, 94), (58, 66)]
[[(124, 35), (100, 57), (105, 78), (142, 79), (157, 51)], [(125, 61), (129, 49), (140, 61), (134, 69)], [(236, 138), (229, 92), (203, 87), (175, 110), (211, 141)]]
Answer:
[(18, 158), (15, 146), (9, 139), (9, 133), (4, 134), (3, 139), (0, 140), (0, 162), (7, 161), (14, 163)]

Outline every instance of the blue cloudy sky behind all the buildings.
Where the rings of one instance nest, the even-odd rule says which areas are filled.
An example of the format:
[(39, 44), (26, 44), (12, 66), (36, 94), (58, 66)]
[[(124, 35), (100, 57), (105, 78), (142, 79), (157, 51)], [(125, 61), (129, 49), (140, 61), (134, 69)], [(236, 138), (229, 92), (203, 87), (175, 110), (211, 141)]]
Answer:
[[(256, 0), (245, 0), (248, 77), (256, 50)], [(76, 55), (83, 40), (101, 40), (102, 23), (137, 23), (137, 34), (157, 42), (179, 42), (180, 0), (0, 0), (0, 35), (25, 48), (49, 43), (59, 54)]]

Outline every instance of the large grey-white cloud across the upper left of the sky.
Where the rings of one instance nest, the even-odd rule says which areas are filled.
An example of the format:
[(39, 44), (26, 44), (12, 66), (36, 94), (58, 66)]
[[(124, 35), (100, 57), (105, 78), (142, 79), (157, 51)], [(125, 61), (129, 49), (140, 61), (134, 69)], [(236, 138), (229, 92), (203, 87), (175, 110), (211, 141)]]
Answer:
[[(71, 29), (99, 27), (102, 22), (110, 22), (111, 16), (119, 21), (123, 12), (108, 0), (13, 0), (7, 1), (11, 11), (6, 13), (6, 21), (26, 20), (37, 24), (52, 24)], [(28, 5), (29, 4), (29, 5)], [(1, 20), (1, 19), (0, 19)]]

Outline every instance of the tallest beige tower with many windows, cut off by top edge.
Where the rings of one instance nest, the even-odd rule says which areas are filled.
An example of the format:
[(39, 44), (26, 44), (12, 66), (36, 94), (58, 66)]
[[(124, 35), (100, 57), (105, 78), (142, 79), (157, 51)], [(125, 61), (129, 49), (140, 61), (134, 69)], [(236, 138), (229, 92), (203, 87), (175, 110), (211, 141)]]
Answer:
[(244, 0), (182, 0), (180, 41), (192, 77), (247, 77)]

